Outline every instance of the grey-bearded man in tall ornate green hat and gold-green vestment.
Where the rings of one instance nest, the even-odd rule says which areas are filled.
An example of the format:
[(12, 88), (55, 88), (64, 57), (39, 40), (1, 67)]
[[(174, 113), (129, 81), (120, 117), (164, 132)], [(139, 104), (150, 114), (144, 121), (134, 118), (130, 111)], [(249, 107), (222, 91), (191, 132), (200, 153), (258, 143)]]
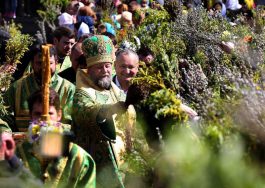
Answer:
[[(111, 81), (115, 58), (112, 41), (106, 36), (92, 36), (83, 41), (82, 49), (87, 69), (77, 72), (72, 115), (77, 143), (96, 162), (98, 187), (122, 187), (119, 170), (122, 155), (130, 149), (134, 122), (122, 121), (122, 117), (126, 113), (135, 116), (135, 111), (125, 106), (123, 91)], [(103, 133), (100, 124), (106, 122), (112, 123), (113, 129)], [(105, 128), (109, 127), (106, 124)]]

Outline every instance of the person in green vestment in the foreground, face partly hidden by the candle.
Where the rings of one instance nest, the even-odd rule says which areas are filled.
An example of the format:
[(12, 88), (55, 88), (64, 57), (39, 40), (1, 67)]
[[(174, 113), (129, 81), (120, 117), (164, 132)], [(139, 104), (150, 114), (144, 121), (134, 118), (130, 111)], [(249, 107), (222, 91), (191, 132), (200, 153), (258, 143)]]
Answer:
[[(58, 123), (61, 119), (61, 109), (58, 94), (50, 89), (49, 96), (49, 122), (40, 121), (43, 112), (41, 90), (29, 98), (31, 124), (28, 128), (29, 140), (24, 141), (17, 148), (17, 154), (23, 164), (32, 174), (42, 180), (47, 187), (95, 187), (95, 163), (91, 156), (71, 142), (69, 126)], [(64, 135), (63, 144), (60, 140), (48, 135)], [(56, 137), (55, 137), (56, 138)], [(46, 143), (45, 143), (46, 142)], [(59, 147), (62, 146), (62, 147)], [(43, 149), (44, 148), (44, 149)], [(63, 148), (62, 154), (51, 155), (51, 152)], [(47, 151), (49, 156), (47, 156)], [(46, 155), (44, 155), (46, 152)]]

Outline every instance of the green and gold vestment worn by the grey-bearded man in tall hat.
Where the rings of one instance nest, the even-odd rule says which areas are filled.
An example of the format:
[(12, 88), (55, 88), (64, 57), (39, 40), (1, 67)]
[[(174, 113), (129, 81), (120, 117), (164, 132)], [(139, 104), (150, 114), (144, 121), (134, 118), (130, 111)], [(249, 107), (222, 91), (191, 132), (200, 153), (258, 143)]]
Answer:
[[(97, 125), (96, 118), (103, 105), (125, 100), (125, 95), (113, 82), (109, 90), (102, 90), (95, 86), (88, 78), (85, 70), (78, 70), (76, 92), (73, 100), (73, 122), (77, 143), (91, 154), (97, 165), (97, 186), (117, 187), (117, 175), (114, 173), (108, 142), (103, 138)], [(116, 129), (115, 143), (111, 143), (117, 165), (122, 163), (122, 154), (127, 149), (127, 124), (119, 124), (119, 116), (113, 115)], [(115, 185), (116, 184), (116, 185)]]

